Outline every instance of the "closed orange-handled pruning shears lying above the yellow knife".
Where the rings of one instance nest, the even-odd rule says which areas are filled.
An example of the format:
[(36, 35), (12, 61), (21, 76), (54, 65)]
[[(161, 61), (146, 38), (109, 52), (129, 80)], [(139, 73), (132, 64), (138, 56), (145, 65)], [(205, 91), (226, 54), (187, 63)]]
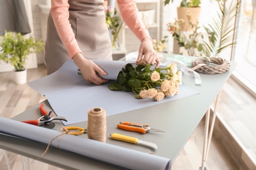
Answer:
[(159, 129), (154, 129), (149, 124), (138, 124), (134, 122), (120, 122), (117, 127), (127, 131), (138, 131), (140, 133), (147, 133), (149, 131), (164, 132)]

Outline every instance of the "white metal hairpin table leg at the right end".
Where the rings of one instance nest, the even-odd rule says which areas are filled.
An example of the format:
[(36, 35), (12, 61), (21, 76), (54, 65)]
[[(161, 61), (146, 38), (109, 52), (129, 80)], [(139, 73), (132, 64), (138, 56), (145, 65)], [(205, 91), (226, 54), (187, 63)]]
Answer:
[(202, 156), (202, 166), (200, 167), (200, 169), (207, 169), (207, 167), (205, 167), (205, 162), (207, 161), (207, 157), (208, 157), (208, 154), (209, 154), (209, 148), (210, 148), (210, 144), (211, 144), (211, 137), (213, 135), (213, 128), (214, 128), (214, 124), (215, 124), (215, 120), (216, 120), (216, 114), (217, 114), (217, 109), (218, 109), (218, 106), (219, 106), (219, 99), (220, 98), (221, 98), (221, 91), (219, 92), (219, 94), (216, 97), (210, 130), (209, 130), (209, 118), (210, 118), (210, 110), (211, 109), (209, 108), (207, 110), (206, 114), (205, 114), (203, 156)]

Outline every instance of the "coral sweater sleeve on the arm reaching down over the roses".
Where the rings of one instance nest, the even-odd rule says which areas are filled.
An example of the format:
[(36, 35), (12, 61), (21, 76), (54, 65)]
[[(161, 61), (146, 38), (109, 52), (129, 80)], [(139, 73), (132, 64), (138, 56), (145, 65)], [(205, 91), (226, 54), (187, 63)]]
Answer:
[(117, 4), (125, 24), (138, 37), (140, 41), (150, 37), (148, 30), (138, 15), (137, 5), (134, 0), (117, 0)]

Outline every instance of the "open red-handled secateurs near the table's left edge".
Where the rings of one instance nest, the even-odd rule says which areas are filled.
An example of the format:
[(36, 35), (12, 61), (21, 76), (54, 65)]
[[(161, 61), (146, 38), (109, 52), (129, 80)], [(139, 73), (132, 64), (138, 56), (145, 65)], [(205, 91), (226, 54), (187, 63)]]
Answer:
[(53, 128), (55, 126), (54, 122), (52, 122), (53, 120), (64, 120), (66, 122), (68, 121), (66, 120), (66, 118), (62, 116), (53, 116), (53, 114), (51, 114), (52, 111), (47, 112), (45, 109), (43, 109), (43, 104), (40, 105), (39, 109), (43, 116), (39, 117), (36, 120), (26, 120), (22, 122), (26, 124), (32, 124), (35, 126), (48, 126), (50, 128)]

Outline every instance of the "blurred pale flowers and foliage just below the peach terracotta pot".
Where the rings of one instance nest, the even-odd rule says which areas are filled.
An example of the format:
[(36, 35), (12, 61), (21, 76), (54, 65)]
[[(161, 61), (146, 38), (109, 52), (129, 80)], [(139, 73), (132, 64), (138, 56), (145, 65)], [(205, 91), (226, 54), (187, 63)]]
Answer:
[(173, 23), (169, 22), (167, 29), (173, 35), (174, 39), (178, 41), (178, 45), (185, 48), (186, 53), (183, 52), (183, 55), (203, 56), (203, 35), (198, 31), (200, 29), (198, 23), (190, 22), (190, 16), (191, 14), (188, 11), (188, 29), (191, 31), (184, 29), (185, 22), (182, 19), (175, 20)]

